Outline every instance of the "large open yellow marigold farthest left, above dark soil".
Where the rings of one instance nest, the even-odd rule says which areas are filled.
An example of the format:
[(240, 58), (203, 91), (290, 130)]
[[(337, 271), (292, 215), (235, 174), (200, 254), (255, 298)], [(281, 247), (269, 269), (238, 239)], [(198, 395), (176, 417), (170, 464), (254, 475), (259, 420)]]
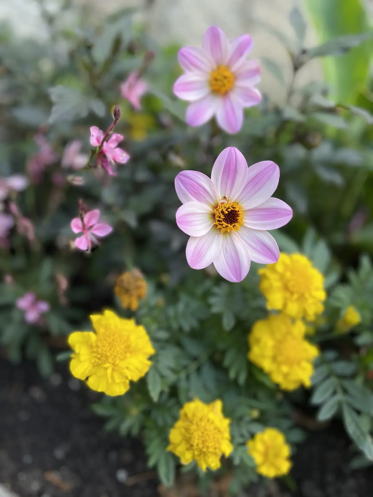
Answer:
[(93, 331), (75, 331), (69, 336), (74, 350), (70, 371), (88, 386), (106, 395), (122, 395), (130, 381), (144, 376), (155, 353), (143, 326), (119, 318), (112, 311), (91, 316)]

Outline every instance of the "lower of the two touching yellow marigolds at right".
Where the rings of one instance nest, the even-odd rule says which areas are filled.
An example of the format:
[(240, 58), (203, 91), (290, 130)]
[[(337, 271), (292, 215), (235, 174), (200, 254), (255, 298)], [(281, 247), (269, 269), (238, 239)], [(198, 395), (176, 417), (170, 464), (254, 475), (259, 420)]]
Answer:
[(254, 323), (249, 334), (251, 362), (262, 368), (282, 390), (311, 386), (313, 360), (319, 350), (304, 338), (306, 327), (285, 314)]

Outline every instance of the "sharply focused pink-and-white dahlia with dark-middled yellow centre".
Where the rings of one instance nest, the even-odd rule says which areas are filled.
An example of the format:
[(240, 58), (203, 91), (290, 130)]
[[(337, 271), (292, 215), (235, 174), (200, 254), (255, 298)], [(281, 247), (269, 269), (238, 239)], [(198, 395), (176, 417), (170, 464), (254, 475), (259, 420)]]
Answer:
[(199, 171), (182, 171), (175, 178), (183, 202), (177, 213), (179, 228), (190, 238), (187, 262), (193, 269), (214, 264), (228, 281), (242, 281), (250, 261), (272, 264), (280, 256), (267, 230), (288, 223), (291, 208), (271, 195), (280, 169), (272, 161), (248, 168), (234, 147), (224, 149), (215, 161), (211, 179)]

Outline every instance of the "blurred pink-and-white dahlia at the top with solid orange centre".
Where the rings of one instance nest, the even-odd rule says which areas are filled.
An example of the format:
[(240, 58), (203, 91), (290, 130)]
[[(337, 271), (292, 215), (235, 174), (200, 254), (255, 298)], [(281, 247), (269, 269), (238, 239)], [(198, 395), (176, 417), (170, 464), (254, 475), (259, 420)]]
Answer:
[(179, 63), (185, 71), (174, 84), (174, 93), (191, 102), (187, 107), (189, 126), (201, 126), (215, 116), (220, 128), (237, 133), (243, 109), (257, 105), (262, 95), (254, 87), (260, 82), (257, 60), (247, 61), (253, 42), (244, 34), (231, 42), (217, 26), (207, 29), (202, 49), (184, 47)]

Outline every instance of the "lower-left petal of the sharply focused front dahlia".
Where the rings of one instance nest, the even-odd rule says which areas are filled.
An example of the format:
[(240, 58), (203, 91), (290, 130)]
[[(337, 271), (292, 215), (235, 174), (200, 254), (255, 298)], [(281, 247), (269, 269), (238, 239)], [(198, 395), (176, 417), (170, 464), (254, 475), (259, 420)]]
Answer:
[(193, 269), (209, 266), (221, 250), (223, 237), (217, 230), (210, 230), (202, 237), (190, 237), (187, 243), (187, 262)]

